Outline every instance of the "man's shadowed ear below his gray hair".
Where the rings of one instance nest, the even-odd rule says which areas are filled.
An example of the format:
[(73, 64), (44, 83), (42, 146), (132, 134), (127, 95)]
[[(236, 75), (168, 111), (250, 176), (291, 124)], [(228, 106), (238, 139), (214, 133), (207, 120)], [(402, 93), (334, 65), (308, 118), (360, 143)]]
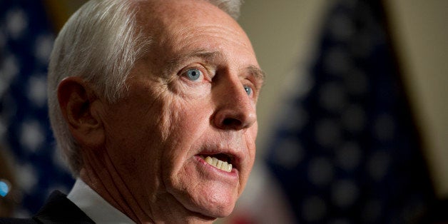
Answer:
[(98, 148), (104, 142), (101, 101), (93, 86), (80, 77), (68, 77), (58, 85), (58, 101), (68, 128), (78, 143)]

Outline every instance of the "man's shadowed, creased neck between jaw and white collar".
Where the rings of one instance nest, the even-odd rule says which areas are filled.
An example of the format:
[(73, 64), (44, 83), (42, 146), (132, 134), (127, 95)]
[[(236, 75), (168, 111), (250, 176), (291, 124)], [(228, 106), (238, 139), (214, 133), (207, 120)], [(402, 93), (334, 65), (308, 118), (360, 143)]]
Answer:
[(186, 209), (166, 190), (150, 189), (151, 194), (141, 194), (147, 186), (137, 190), (128, 188), (111, 161), (94, 158), (93, 161), (84, 159), (80, 178), (136, 223), (178, 223), (179, 220), (183, 223), (212, 223), (215, 220)]

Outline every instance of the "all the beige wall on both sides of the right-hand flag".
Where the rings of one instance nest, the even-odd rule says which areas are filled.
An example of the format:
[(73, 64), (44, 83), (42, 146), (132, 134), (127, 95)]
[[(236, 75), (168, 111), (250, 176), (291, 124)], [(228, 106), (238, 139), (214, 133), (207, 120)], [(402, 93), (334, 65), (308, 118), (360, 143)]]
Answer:
[[(258, 104), (258, 151), (273, 132), (287, 83), (311, 54), (325, 0), (246, 0), (240, 24), (268, 73)], [(448, 1), (387, 0), (405, 84), (439, 196), (448, 197)], [(297, 72), (296, 69), (299, 69)], [(295, 71), (295, 72), (294, 72)]]

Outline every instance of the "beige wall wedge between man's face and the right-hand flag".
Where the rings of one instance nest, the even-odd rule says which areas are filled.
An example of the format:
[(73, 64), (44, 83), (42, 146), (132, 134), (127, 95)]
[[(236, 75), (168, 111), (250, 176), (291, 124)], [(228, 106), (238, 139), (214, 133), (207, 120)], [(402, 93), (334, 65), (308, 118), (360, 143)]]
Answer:
[[(287, 83), (300, 78), (297, 69), (304, 67), (312, 54), (317, 24), (329, 6), (327, 0), (246, 0), (239, 23), (252, 41), (258, 63), (267, 77), (258, 103), (258, 155), (273, 132), (276, 114), (282, 111), (282, 96)], [(297, 82), (296, 82), (297, 83)]]

